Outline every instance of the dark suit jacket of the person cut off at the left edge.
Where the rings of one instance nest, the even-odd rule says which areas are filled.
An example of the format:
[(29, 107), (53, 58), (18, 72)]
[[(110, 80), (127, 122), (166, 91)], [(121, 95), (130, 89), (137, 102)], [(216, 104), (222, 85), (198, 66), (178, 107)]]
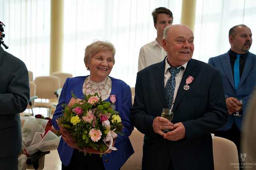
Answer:
[(21, 151), (20, 114), (28, 106), (26, 65), (0, 47), (0, 158)]

